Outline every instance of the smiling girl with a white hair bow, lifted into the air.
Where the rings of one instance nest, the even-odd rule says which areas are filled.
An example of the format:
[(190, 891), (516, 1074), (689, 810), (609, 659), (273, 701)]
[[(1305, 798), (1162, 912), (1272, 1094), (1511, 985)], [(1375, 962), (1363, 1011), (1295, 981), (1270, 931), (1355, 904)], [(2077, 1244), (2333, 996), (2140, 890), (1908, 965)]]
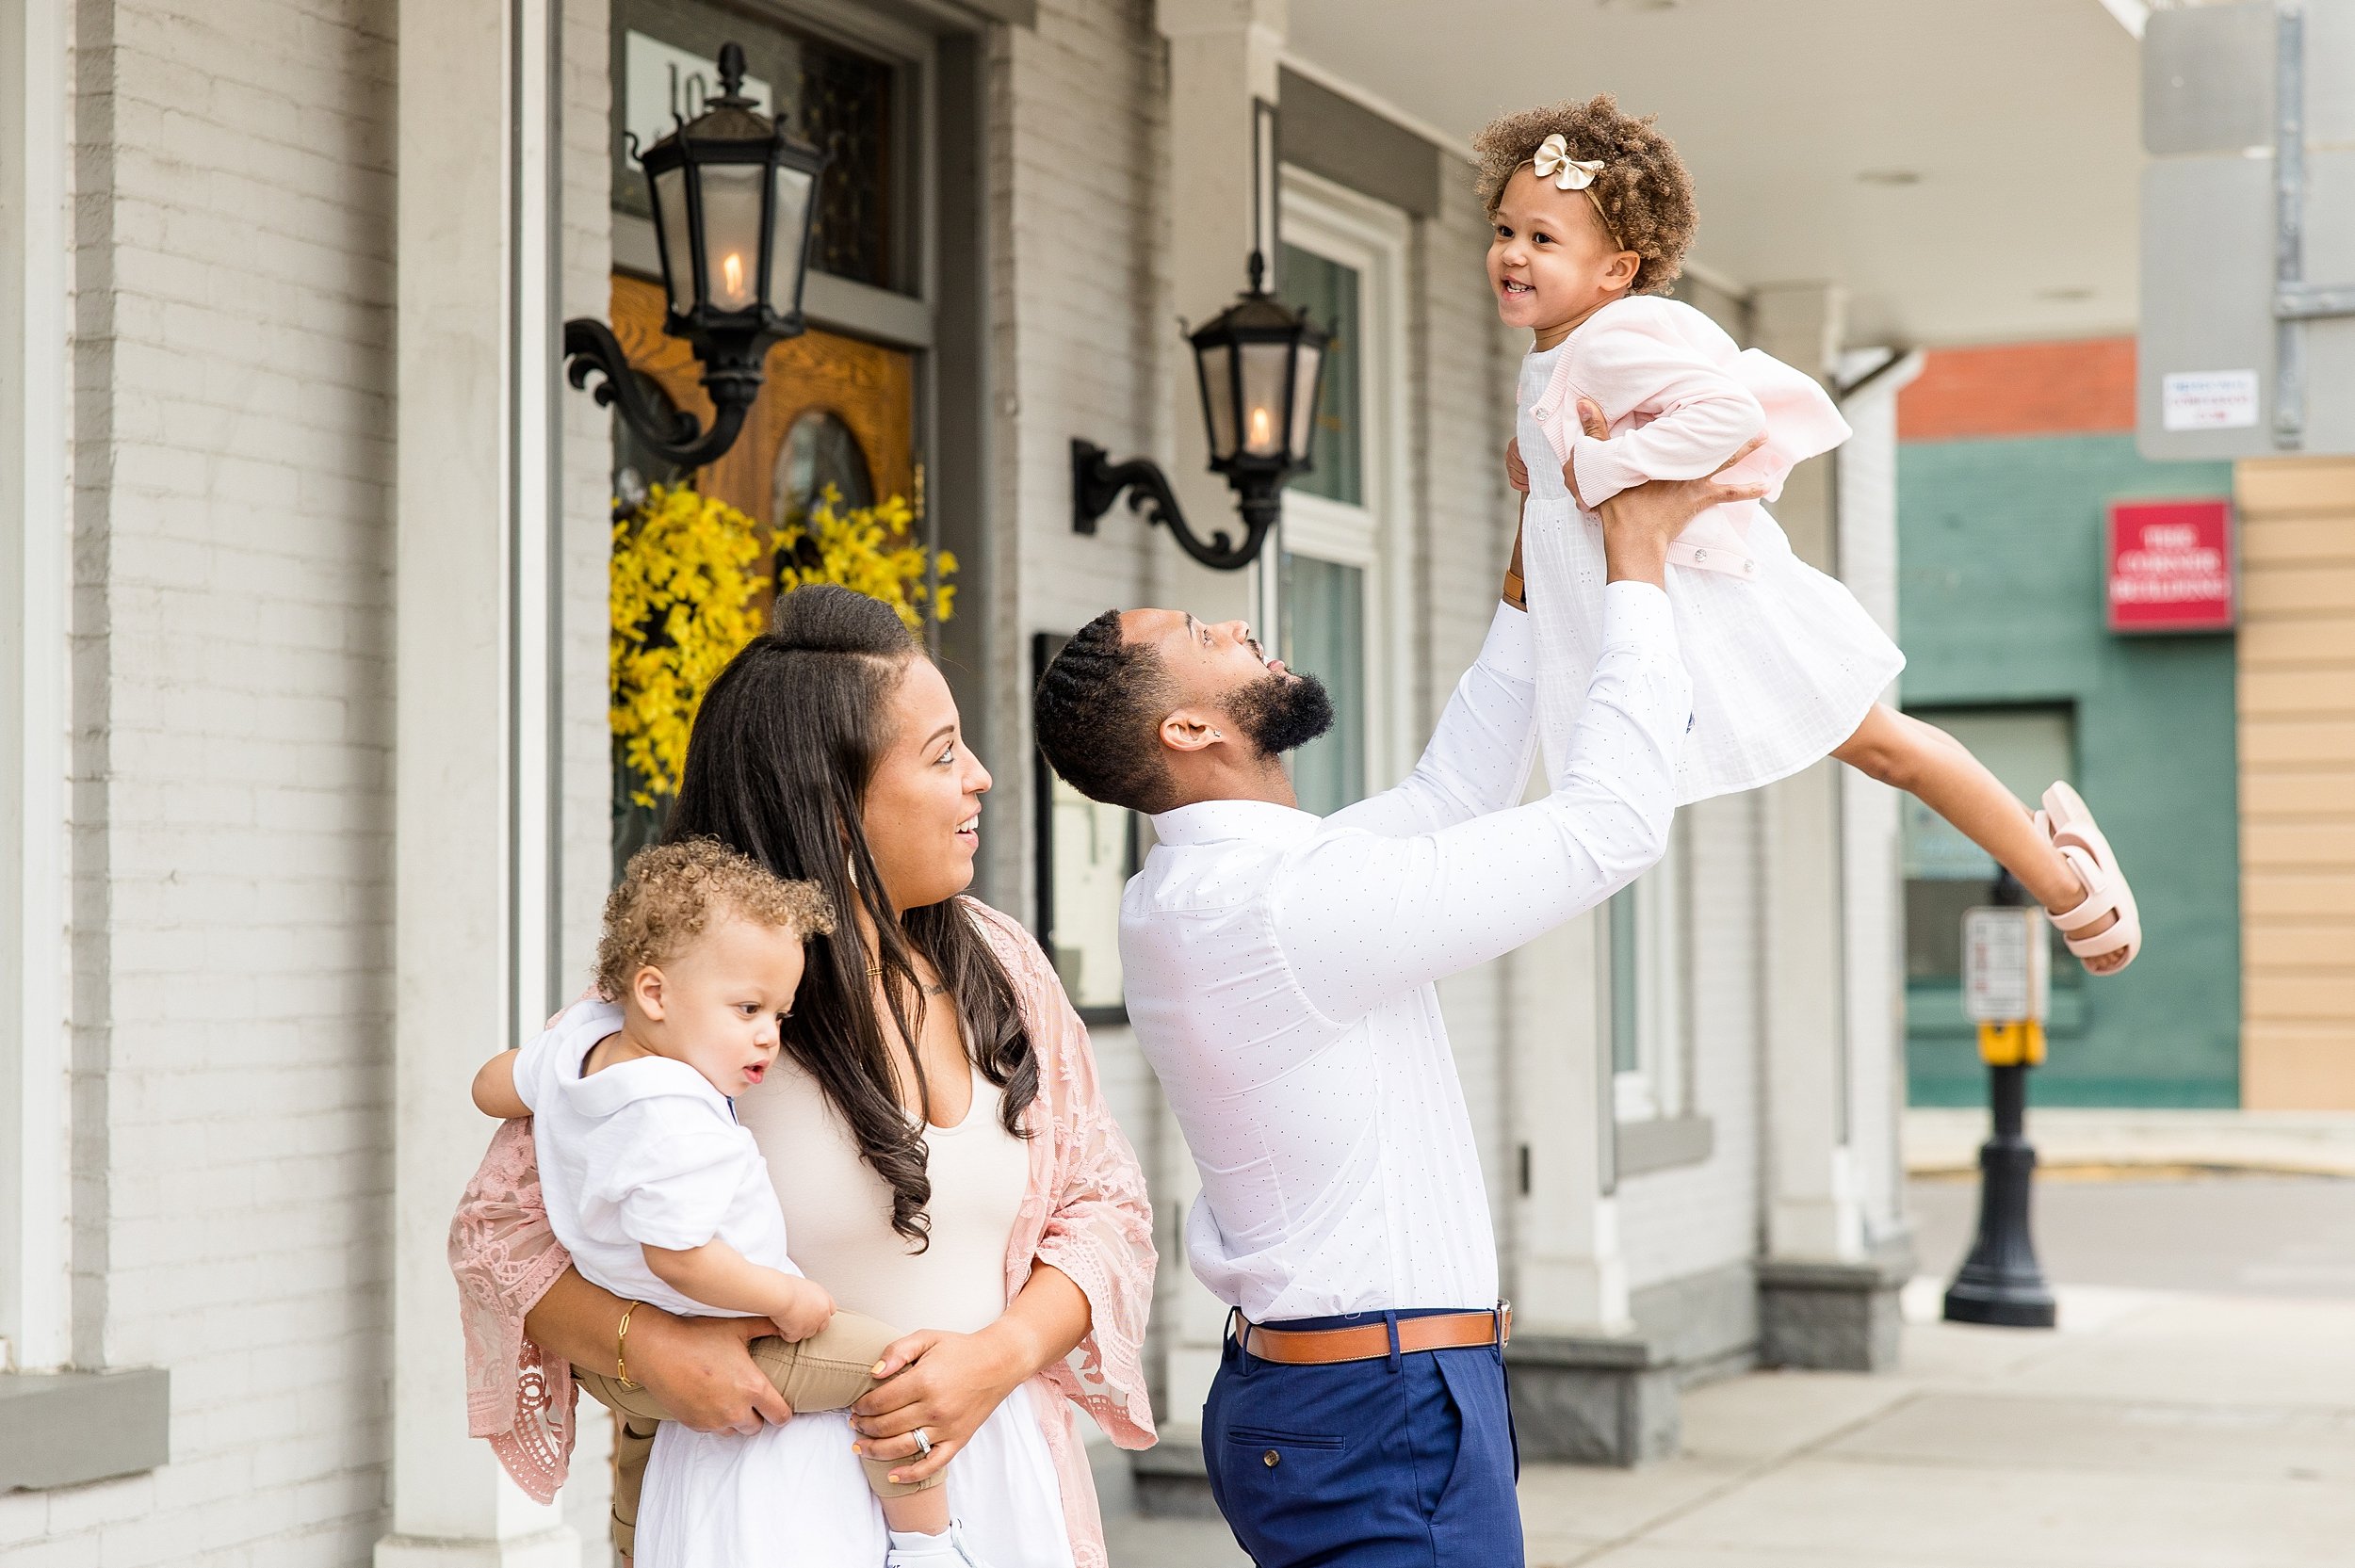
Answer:
[[(1849, 426), (1813, 377), (1743, 351), (1660, 292), (1693, 238), (1693, 181), (1651, 120), (1604, 94), (1493, 120), (1477, 139), (1498, 315), (1521, 360), (1507, 473), (1526, 490), (1521, 556), (1538, 638), (1538, 723), (1564, 763), (1604, 624), (1597, 509), (1646, 480), (1726, 469), (1766, 485)], [(1608, 438), (1590, 433), (1606, 428)], [(2068, 784), (2030, 815), (1955, 737), (1882, 702), (1905, 655), (1835, 579), (1792, 556), (1757, 501), (1714, 506), (1667, 551), (1667, 598), (1693, 678), (1679, 805), (1757, 789), (1837, 756), (1910, 791), (1992, 855), (2096, 975), (2134, 961), (2134, 892)]]

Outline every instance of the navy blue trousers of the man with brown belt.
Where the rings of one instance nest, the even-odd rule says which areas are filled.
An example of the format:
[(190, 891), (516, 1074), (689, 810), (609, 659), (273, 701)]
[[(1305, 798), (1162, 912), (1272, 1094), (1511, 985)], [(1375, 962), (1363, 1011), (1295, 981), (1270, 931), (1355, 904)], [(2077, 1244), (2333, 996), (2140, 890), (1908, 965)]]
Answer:
[(1260, 1568), (1521, 1568), (1519, 1460), (1493, 1344), (1279, 1366), (1227, 1335), (1201, 1453), (1218, 1511)]

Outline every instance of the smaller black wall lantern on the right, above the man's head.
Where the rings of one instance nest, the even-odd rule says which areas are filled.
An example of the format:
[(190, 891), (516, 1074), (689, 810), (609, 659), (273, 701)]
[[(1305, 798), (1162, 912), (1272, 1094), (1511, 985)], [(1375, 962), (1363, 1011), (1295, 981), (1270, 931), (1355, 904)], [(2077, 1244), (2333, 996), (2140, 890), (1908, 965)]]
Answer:
[[(1225, 473), (1234, 487), (1243, 542), (1234, 544), (1227, 530), (1215, 530), (1203, 542), (1187, 527), (1178, 494), (1156, 461), (1133, 457), (1114, 464), (1090, 440), (1072, 443), (1072, 532), (1093, 534), (1095, 520), (1112, 511), (1126, 490), (1128, 509), (1147, 523), (1168, 525), (1187, 556), (1206, 567), (1234, 572), (1258, 560), (1267, 530), (1283, 516), (1283, 483), (1309, 471), (1309, 431), (1333, 334), (1312, 325), (1307, 311), (1288, 311), (1265, 287), (1267, 254), (1260, 235), (1267, 191), (1260, 174), (1260, 125), (1272, 118), (1267, 104), (1253, 106), (1251, 287), (1187, 332), (1201, 384), (1201, 417), (1210, 433), (1210, 473)], [(1272, 148), (1272, 139), (1265, 146)]]

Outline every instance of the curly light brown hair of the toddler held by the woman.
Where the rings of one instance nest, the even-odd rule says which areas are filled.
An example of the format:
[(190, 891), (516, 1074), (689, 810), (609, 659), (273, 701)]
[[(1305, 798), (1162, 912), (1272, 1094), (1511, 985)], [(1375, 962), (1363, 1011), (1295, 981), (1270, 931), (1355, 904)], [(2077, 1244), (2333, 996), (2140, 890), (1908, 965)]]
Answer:
[(596, 989), (622, 1001), (631, 977), (662, 968), (718, 916), (787, 928), (803, 942), (834, 930), (834, 909), (817, 883), (789, 883), (718, 838), (657, 843), (629, 857), (622, 885), (605, 897), (605, 935), (596, 944)]

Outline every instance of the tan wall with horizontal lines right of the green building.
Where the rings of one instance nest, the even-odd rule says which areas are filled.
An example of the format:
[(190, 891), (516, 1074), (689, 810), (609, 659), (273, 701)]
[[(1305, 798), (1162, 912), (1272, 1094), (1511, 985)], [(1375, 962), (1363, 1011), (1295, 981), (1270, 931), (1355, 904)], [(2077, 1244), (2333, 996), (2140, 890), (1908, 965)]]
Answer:
[(2235, 487), (2242, 1104), (2355, 1109), (2355, 459)]

